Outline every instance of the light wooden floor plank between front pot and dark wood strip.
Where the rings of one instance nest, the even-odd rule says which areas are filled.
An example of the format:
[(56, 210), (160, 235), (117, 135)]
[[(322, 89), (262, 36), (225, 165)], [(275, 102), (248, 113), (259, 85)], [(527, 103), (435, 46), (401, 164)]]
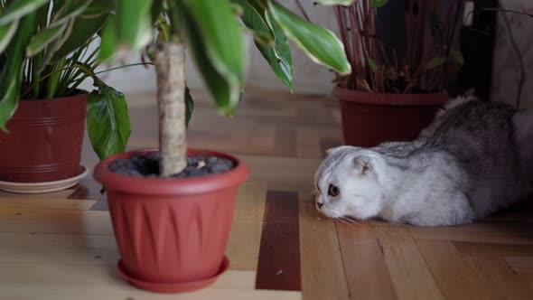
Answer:
[(257, 270), (265, 213), (266, 183), (244, 183), (238, 189), (226, 255), (231, 268)]

